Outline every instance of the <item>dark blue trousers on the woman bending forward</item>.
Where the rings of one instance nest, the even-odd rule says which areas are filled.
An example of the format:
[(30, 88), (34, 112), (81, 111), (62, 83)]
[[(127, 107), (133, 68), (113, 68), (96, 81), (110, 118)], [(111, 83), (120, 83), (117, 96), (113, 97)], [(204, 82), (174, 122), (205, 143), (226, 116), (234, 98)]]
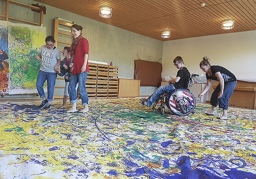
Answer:
[(234, 88), (236, 87), (236, 82), (224, 82), (224, 90), (222, 97), (218, 98), (218, 93), (220, 92), (220, 84), (215, 88), (211, 97), (211, 105), (217, 106), (221, 109), (228, 109), (229, 98), (231, 97)]

